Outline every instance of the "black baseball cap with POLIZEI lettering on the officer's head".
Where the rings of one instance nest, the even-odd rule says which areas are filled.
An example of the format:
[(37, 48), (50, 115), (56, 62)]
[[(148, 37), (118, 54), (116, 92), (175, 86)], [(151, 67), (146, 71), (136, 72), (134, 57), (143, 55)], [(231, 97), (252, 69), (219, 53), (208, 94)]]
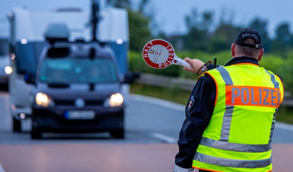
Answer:
[[(244, 40), (249, 37), (249, 38), (253, 38), (255, 41), (255, 44), (247, 44), (244, 43)], [(240, 31), (237, 35), (237, 37), (235, 38), (235, 44), (237, 45), (241, 45), (244, 47), (250, 47), (250, 48), (258, 48), (261, 49), (263, 48), (263, 43), (261, 41), (261, 36), (258, 33), (258, 31), (253, 30), (252, 28), (245, 28), (242, 31)]]

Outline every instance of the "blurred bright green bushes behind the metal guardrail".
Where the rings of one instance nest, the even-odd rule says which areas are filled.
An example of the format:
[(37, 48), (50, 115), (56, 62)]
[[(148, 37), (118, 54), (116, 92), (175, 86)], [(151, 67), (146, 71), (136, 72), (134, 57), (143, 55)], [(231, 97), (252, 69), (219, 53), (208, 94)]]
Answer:
[[(177, 52), (176, 55), (182, 59), (189, 57), (190, 59), (199, 59), (203, 62), (208, 60), (214, 61), (214, 57), (217, 57), (217, 65), (225, 65), (231, 60), (231, 51), (221, 51), (217, 53), (206, 53), (202, 51), (182, 51)], [(289, 51), (287, 55), (281, 56), (277, 54), (264, 53), (260, 66), (266, 70), (270, 70), (277, 75), (283, 77), (283, 84), (286, 91), (293, 93), (293, 50)], [(157, 75), (167, 75), (173, 77), (184, 77), (196, 80), (199, 75), (183, 70), (182, 66), (170, 65), (164, 69), (154, 69), (149, 67), (142, 59), (141, 52), (130, 51), (130, 70), (137, 72), (154, 73)]]

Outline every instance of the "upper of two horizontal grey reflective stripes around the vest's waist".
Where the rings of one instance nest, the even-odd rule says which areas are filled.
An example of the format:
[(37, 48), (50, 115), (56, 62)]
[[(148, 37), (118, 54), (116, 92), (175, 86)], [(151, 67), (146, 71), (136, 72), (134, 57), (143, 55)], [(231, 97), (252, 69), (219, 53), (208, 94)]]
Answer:
[(236, 151), (236, 152), (267, 152), (271, 150), (271, 144), (238, 144), (229, 143), (227, 141), (214, 140), (206, 137), (202, 137), (200, 140), (200, 145), (222, 149), (226, 151)]

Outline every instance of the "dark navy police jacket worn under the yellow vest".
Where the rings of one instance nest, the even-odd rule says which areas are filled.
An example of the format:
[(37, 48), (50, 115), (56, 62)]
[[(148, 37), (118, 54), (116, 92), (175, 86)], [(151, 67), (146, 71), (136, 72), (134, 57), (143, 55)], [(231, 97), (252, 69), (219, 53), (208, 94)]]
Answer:
[[(237, 63), (259, 65), (255, 58), (243, 56), (232, 58), (225, 66)], [(213, 69), (213, 65), (208, 68), (208, 70), (211, 69)], [(279, 77), (282, 80), (282, 77)], [(179, 134), (179, 152), (175, 157), (176, 165), (182, 168), (191, 168), (197, 146), (214, 112), (215, 99), (216, 84), (214, 80), (209, 75), (201, 76), (195, 84), (185, 108), (186, 119)]]

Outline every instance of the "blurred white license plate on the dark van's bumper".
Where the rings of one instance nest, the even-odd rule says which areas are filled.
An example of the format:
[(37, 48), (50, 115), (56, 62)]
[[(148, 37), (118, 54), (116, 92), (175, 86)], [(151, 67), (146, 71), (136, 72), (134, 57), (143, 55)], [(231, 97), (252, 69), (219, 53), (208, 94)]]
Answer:
[(66, 119), (94, 119), (95, 111), (92, 110), (69, 110), (65, 111), (64, 117)]

